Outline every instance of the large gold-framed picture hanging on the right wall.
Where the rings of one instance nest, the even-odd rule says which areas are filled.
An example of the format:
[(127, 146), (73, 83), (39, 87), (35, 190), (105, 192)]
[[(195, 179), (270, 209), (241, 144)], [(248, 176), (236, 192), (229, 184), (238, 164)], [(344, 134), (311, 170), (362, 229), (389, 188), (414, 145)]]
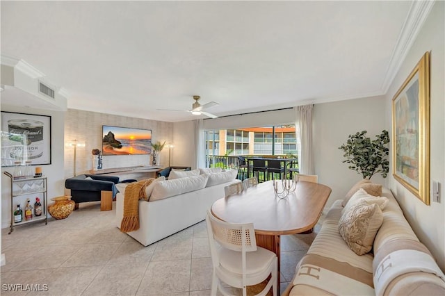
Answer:
[(430, 204), (430, 53), (426, 52), (392, 99), (394, 178)]

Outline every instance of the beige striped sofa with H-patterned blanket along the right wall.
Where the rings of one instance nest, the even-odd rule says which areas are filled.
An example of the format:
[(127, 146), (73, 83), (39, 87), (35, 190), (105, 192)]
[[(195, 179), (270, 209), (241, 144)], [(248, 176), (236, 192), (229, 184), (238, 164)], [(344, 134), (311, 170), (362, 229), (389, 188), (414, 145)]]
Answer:
[(445, 295), (445, 277), (435, 259), (391, 191), (382, 188), (382, 196), (389, 201), (371, 241), (373, 252), (359, 256), (343, 240), (343, 206), (337, 200), (283, 295)]

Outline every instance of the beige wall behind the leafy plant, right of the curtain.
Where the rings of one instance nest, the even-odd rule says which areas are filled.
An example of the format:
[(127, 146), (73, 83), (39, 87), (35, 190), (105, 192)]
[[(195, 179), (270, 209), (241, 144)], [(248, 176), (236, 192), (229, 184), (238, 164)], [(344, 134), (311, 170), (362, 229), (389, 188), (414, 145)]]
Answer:
[[(374, 138), (385, 129), (385, 97), (351, 99), (325, 104), (316, 104), (313, 115), (314, 163), (318, 181), (332, 188), (325, 210), (336, 199), (343, 199), (348, 190), (362, 176), (342, 163), (340, 147), (348, 135), (367, 131)], [(371, 181), (385, 183), (382, 176), (374, 175)]]

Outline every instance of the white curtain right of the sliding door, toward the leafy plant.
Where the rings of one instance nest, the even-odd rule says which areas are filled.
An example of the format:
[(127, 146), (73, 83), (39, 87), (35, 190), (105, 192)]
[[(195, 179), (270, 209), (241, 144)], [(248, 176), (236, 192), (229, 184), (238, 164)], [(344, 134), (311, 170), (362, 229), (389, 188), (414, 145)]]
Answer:
[(295, 108), (300, 174), (315, 174), (314, 151), (312, 150), (312, 108), (314, 108), (313, 104)]

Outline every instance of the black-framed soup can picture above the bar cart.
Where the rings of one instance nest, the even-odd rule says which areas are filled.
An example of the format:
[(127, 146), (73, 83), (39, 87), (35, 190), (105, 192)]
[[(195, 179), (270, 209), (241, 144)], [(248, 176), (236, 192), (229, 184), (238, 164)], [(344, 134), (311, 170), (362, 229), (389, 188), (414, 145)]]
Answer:
[(51, 164), (51, 116), (1, 112), (1, 166)]

